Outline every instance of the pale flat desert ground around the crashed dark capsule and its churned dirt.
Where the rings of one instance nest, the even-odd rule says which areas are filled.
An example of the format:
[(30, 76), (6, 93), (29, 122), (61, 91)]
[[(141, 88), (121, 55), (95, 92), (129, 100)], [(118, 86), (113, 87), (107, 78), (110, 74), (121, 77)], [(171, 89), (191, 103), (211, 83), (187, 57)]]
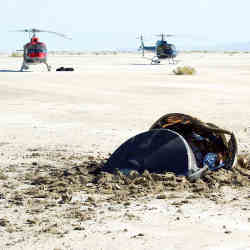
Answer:
[[(249, 185), (118, 199), (122, 184), (97, 192), (86, 176), (76, 185), (73, 174), (68, 182), (55, 174), (108, 157), (166, 113), (234, 131), (239, 153), (249, 153), (250, 54), (177, 59), (54, 55), (51, 72), (19, 72), (22, 58), (0, 56), (0, 249), (250, 249)], [(196, 74), (174, 75), (183, 65)], [(61, 66), (74, 72), (56, 72)]]

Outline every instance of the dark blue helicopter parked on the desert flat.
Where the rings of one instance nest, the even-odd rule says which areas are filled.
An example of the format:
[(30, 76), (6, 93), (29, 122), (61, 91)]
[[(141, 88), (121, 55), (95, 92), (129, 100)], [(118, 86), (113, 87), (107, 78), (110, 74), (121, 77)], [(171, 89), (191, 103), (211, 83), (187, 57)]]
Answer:
[(174, 44), (168, 43), (166, 41), (166, 37), (172, 37), (173, 35), (169, 34), (159, 34), (156, 35), (161, 37), (161, 40), (156, 41), (155, 46), (145, 46), (143, 41), (143, 36), (141, 35), (139, 38), (141, 40), (140, 50), (142, 51), (142, 56), (144, 56), (144, 51), (154, 52), (155, 55), (151, 59), (151, 64), (159, 64), (161, 59), (168, 59), (169, 63), (175, 64), (176, 61), (174, 58), (177, 56), (177, 51)]

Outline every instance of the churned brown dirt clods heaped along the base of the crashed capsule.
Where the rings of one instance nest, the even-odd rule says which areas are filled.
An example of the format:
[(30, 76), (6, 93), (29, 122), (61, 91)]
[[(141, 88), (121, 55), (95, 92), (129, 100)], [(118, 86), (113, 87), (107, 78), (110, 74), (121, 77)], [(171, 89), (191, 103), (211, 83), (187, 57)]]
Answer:
[[(27, 181), (33, 187), (26, 195), (33, 197), (51, 197), (65, 203), (71, 200), (72, 193), (85, 191), (87, 194), (110, 195), (115, 201), (126, 201), (150, 194), (166, 191), (189, 191), (198, 195), (208, 195), (219, 191), (222, 186), (250, 186), (250, 156), (241, 155), (238, 164), (231, 170), (208, 171), (196, 182), (189, 182), (184, 176), (173, 173), (139, 174), (131, 171), (128, 176), (117, 171), (115, 174), (102, 172), (106, 159), (90, 158), (77, 166), (64, 169), (47, 168), (45, 174), (30, 172)], [(39, 168), (39, 166), (37, 166)]]

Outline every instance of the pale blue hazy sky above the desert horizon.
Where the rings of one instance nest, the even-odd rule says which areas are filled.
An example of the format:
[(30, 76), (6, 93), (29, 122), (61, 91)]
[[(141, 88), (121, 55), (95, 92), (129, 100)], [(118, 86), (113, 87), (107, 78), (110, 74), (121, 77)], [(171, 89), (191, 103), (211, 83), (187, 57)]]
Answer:
[(21, 49), (27, 36), (11, 30), (40, 28), (66, 33), (40, 38), (51, 50), (135, 48), (137, 34), (172, 38), (181, 47), (250, 41), (249, 0), (5, 0), (1, 3), (0, 51)]

